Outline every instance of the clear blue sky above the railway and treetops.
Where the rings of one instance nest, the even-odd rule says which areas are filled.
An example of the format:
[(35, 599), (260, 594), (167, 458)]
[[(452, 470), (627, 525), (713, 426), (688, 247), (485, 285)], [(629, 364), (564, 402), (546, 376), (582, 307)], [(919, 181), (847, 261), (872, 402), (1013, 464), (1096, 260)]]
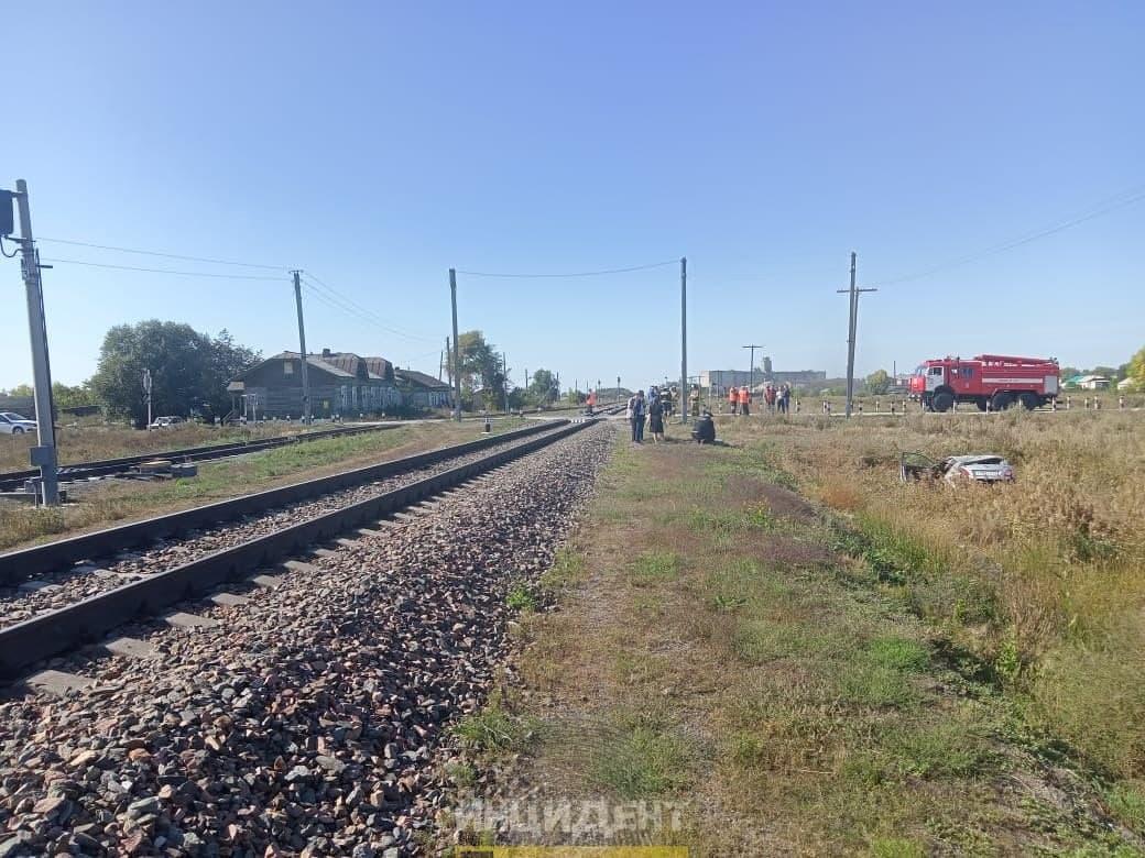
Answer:
[[(38, 237), (297, 265), (372, 316), (308, 292), (311, 349), (433, 373), (450, 267), (686, 255), (693, 372), (745, 366), (756, 342), (776, 368), (840, 374), (852, 249), (861, 284), (889, 284), (1145, 190), (1139, 2), (45, 0), (19, 18), (0, 186), (27, 180)], [(882, 285), (858, 370), (980, 351), (1122, 363), (1145, 344), (1143, 228), (1145, 201)], [(31, 368), (18, 269), (0, 263), (10, 387)], [(285, 271), (58, 263), (45, 287), (69, 383), (108, 327), (144, 318), (297, 348)], [(673, 267), (459, 275), (458, 292), (461, 328), (519, 381), (679, 374)]]

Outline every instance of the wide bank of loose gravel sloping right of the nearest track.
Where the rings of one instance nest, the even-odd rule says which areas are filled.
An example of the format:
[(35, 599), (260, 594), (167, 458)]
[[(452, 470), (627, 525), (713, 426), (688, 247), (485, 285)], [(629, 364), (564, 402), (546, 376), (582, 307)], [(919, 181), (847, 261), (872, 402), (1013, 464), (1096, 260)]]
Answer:
[(223, 625), (153, 626), (156, 656), (90, 661), (68, 699), (0, 705), (0, 857), (424, 853), (442, 731), (484, 699), (505, 596), (550, 565), (614, 436), (556, 442), (245, 605), (188, 606)]

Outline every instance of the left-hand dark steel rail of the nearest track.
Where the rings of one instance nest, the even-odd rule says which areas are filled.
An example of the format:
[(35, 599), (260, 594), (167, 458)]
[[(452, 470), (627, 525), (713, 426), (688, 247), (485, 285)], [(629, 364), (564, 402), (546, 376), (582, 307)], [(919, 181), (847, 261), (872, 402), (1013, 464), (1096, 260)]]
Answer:
[(515, 438), (536, 435), (567, 423), (562, 421), (538, 422), (522, 429), (514, 429), (499, 435), (489, 435), (477, 440), (437, 447), (426, 453), (416, 453), (402, 459), (369, 464), (364, 468), (333, 474), (326, 477), (292, 483), (277, 488), (268, 488), (253, 494), (244, 494), (202, 507), (192, 507), (180, 513), (168, 513), (140, 522), (121, 524), (94, 533), (82, 533), (77, 537), (46, 542), (30, 548), (0, 554), (0, 586), (14, 586), (44, 572), (62, 566), (105, 557), (128, 548), (147, 545), (157, 539), (164, 539), (189, 530), (229, 522), (252, 513), (262, 513), (275, 507), (294, 503), (322, 494), (369, 483), (374, 479), (390, 477), (396, 474), (424, 468), (427, 464), (452, 459), (453, 456), (474, 453), (485, 447), (504, 444)]

